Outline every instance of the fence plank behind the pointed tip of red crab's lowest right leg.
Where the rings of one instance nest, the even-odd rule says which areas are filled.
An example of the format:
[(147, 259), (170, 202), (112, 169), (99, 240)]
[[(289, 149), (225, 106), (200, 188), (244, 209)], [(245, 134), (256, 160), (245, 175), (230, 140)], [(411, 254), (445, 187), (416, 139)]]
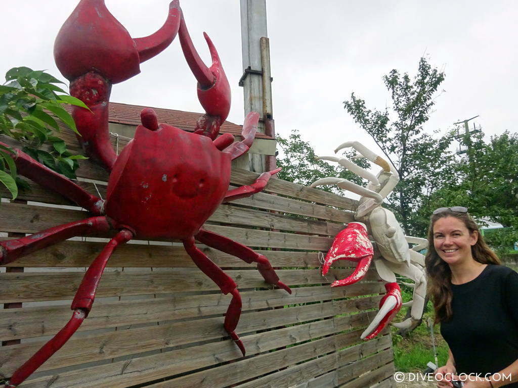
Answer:
[[(279, 347), (293, 345), (319, 336), (333, 334), (341, 330), (354, 329), (368, 323), (366, 312), (334, 317), (322, 321), (285, 327), (241, 337), (247, 355), (264, 353)], [(239, 351), (232, 341), (213, 342), (192, 348), (178, 349), (128, 361), (118, 361), (109, 365), (94, 366), (69, 372), (52, 372), (46, 376), (26, 382), (26, 388), (68, 388), (81, 382), (82, 388), (116, 388), (145, 383), (172, 375), (183, 374), (221, 362), (240, 359)], [(84, 380), (88, 375), (89, 379)]]

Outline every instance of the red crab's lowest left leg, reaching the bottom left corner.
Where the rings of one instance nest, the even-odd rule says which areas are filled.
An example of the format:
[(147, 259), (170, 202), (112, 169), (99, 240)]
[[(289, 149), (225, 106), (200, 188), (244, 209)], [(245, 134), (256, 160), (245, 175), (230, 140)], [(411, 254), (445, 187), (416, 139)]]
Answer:
[(66, 341), (77, 331), (92, 308), (100, 277), (103, 275), (104, 268), (113, 250), (117, 248), (119, 244), (130, 241), (132, 237), (132, 232), (123, 229), (104, 247), (99, 253), (99, 256), (95, 258), (92, 265), (88, 268), (88, 271), (84, 274), (74, 301), (70, 306), (70, 308), (74, 310), (70, 321), (68, 321), (59, 333), (28, 359), (25, 364), (16, 370), (11, 379), (7, 382), (6, 387), (12, 388), (21, 384), (27, 377), (31, 376), (41, 364), (47, 361), (52, 354), (60, 350)]

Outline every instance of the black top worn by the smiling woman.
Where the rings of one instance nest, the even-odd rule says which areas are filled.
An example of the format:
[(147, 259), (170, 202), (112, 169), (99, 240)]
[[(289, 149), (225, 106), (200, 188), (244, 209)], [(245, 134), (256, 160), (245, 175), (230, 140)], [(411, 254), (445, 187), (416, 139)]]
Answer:
[[(487, 265), (479, 276), (451, 286), (452, 319), (441, 322), (457, 374), (493, 374), (518, 359), (518, 273)], [(506, 385), (518, 387), (518, 383)]]

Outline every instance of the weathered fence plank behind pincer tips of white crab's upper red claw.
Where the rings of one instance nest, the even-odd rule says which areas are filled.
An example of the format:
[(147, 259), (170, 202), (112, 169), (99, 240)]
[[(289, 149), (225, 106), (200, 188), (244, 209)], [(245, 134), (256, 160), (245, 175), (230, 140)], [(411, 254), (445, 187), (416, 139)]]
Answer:
[[(353, 270), (332, 269), (322, 277), (319, 270), (277, 270), (287, 285), (315, 285), (344, 279)], [(272, 288), (256, 270), (225, 271), (239, 288)], [(3, 273), (0, 274), (2, 303), (72, 299), (84, 273)], [(369, 270), (365, 280), (378, 280), (375, 270)], [(118, 295), (149, 295), (171, 292), (216, 291), (219, 288), (198, 268), (172, 268), (160, 272), (111, 271), (103, 274), (97, 297)]]

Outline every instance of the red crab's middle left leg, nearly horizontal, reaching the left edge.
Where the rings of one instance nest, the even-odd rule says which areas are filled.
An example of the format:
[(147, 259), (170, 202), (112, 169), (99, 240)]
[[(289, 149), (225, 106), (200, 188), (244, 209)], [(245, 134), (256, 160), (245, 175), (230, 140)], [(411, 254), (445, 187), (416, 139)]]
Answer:
[(92, 232), (106, 232), (110, 225), (104, 216), (91, 217), (81, 221), (49, 228), (30, 236), (0, 242), (0, 265), (8, 264), (19, 257), (38, 249), (64, 241), (67, 238)]

